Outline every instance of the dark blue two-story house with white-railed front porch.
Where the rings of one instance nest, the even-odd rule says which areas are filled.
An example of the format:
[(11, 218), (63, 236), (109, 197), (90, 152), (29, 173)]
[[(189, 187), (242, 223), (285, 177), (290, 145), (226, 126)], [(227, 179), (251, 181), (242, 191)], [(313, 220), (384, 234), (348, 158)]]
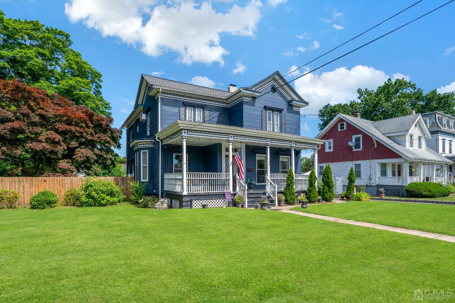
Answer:
[[(300, 151), (324, 142), (300, 136), (300, 109), (307, 105), (278, 71), (227, 91), (141, 75), (134, 109), (122, 125), (126, 173), (176, 208), (223, 206), (225, 192), (242, 194), (245, 207), (260, 195), (276, 204), (289, 168), (296, 191), (307, 189)], [(240, 147), (243, 179), (232, 160)], [(245, 179), (256, 180), (253, 191)]]

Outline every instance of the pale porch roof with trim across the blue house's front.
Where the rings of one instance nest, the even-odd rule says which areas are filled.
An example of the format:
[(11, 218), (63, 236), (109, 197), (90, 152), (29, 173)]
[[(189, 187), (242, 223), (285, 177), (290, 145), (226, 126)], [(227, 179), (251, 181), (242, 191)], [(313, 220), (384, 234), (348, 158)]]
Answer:
[[(293, 134), (183, 120), (173, 122), (155, 135), (163, 144), (179, 144), (182, 136), (187, 136), (188, 139), (193, 139), (192, 141), (194, 141), (188, 142), (189, 144), (202, 146), (216, 143), (216, 141), (212, 140), (220, 140), (220, 142), (233, 140), (234, 142), (246, 144), (270, 144), (270, 146), (276, 147), (289, 148), (293, 146), (295, 149), (316, 149), (325, 142), (324, 140)], [(194, 139), (197, 139), (197, 141)]]

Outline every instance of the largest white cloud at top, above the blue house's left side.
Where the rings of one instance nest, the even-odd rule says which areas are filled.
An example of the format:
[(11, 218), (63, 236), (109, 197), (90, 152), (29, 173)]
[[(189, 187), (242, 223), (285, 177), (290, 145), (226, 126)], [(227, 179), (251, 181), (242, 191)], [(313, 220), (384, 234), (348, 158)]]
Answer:
[(147, 55), (173, 51), (179, 62), (188, 65), (223, 65), (229, 51), (220, 45), (220, 34), (253, 37), (261, 5), (258, 0), (243, 7), (234, 4), (223, 14), (210, 2), (157, 5), (156, 0), (70, 0), (65, 13), (71, 22), (83, 21), (101, 35), (118, 37)]

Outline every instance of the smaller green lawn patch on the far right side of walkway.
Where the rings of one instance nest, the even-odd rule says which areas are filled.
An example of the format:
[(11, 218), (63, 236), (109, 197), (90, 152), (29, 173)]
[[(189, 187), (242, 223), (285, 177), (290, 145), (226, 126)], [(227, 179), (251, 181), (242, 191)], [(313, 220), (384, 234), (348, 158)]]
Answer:
[(449, 204), (371, 200), (309, 205), (307, 209), (293, 210), (455, 236), (455, 205)]

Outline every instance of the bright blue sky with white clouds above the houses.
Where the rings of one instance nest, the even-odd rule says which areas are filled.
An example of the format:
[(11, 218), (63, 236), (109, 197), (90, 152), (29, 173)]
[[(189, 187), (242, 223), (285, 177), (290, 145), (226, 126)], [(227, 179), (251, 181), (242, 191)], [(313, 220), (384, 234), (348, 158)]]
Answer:
[[(249, 86), (276, 70), (286, 74), (414, 2), (3, 0), (0, 9), (7, 17), (68, 32), (72, 47), (103, 74), (102, 92), (120, 127), (142, 73), (218, 89)], [(445, 2), (424, 0), (305, 69)], [(293, 85), (310, 103), (302, 114), (317, 114), (328, 102), (349, 102), (357, 88), (374, 89), (388, 77), (410, 79), (425, 91), (455, 90), (454, 13), (455, 2), (296, 80)], [(317, 123), (302, 118), (302, 135), (315, 136)]]

